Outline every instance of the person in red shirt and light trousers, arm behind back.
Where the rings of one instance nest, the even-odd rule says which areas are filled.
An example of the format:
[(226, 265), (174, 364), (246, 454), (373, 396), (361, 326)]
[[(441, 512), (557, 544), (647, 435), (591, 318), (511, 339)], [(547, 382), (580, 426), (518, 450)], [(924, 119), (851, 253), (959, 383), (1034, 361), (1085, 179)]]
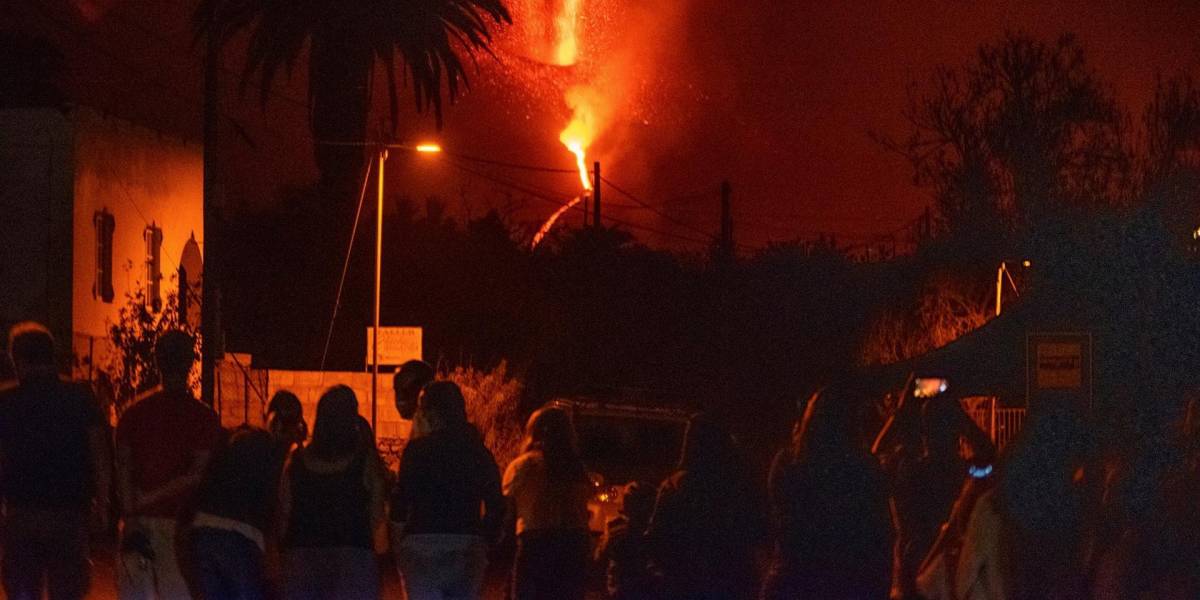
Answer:
[(176, 563), (175, 528), (221, 439), (221, 422), (192, 395), (194, 340), (179, 330), (155, 344), (162, 386), (139, 398), (116, 425), (121, 499), (118, 595), (188, 598)]

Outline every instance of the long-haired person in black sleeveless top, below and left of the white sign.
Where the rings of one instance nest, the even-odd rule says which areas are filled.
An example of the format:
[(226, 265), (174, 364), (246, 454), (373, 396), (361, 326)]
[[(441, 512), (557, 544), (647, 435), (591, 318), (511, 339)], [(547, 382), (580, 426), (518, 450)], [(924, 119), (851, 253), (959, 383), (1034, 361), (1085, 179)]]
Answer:
[(288, 599), (374, 599), (374, 530), (384, 484), (364, 448), (358, 398), (335, 385), (317, 403), (312, 442), (293, 452), (280, 491)]

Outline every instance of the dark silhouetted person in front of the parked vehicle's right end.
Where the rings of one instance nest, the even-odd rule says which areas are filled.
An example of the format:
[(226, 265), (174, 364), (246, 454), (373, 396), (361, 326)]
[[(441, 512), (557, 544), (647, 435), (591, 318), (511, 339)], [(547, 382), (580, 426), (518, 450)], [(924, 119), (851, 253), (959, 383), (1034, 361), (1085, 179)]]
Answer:
[(659, 487), (647, 530), (664, 598), (736, 600), (757, 587), (755, 551), (766, 524), (761, 493), (730, 432), (692, 420), (678, 470)]

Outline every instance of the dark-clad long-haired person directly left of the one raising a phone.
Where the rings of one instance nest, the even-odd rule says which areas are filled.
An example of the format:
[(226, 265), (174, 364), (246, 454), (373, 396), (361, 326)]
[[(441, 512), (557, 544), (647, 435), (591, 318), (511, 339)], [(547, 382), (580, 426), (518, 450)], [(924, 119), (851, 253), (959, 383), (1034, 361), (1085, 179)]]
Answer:
[(862, 398), (815, 395), (769, 478), (775, 545), (762, 598), (875, 599), (890, 586), (887, 479), (854, 434)]

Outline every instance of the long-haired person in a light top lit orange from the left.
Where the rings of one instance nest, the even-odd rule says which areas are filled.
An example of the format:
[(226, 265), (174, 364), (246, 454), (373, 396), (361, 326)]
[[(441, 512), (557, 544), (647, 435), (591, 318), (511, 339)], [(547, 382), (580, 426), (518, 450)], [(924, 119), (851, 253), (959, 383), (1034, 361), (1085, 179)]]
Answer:
[(556, 407), (536, 410), (526, 424), (524, 451), (504, 472), (516, 517), (516, 600), (583, 598), (590, 493), (570, 415)]

